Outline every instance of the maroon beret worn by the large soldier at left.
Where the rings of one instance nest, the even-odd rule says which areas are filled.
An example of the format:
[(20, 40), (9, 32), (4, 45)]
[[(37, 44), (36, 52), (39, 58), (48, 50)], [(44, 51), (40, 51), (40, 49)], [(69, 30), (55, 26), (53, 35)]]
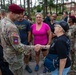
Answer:
[(11, 4), (9, 5), (9, 11), (16, 13), (16, 14), (20, 14), (24, 12), (24, 9), (21, 8), (20, 6), (16, 5), (16, 4)]

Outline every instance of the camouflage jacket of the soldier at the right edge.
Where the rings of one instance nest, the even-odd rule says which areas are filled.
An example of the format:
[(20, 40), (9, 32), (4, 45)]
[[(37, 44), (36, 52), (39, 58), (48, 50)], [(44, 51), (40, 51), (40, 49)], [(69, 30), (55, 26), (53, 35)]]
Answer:
[(74, 48), (75, 45), (75, 36), (76, 36), (76, 25), (72, 25), (69, 27), (69, 31), (67, 33), (67, 35), (69, 36), (70, 40), (71, 40), (71, 49)]

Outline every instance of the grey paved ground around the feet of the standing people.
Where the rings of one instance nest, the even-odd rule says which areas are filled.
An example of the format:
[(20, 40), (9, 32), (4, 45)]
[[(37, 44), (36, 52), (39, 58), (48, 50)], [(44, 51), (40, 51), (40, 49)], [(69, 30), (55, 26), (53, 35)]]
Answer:
[[(24, 75), (51, 75), (51, 73), (43, 73), (43, 61), (40, 61), (40, 63), (39, 63), (39, 67), (40, 67), (40, 69), (39, 69), (39, 71), (38, 72), (35, 72), (34, 71), (34, 68), (35, 68), (35, 61), (31, 61), (31, 62), (29, 62), (29, 66), (30, 66), (30, 68), (32, 69), (32, 73), (28, 73), (26, 70), (24, 70)], [(73, 70), (71, 70), (70, 71), (70, 73), (68, 74), (68, 75), (76, 75), (76, 73), (73, 71)]]

